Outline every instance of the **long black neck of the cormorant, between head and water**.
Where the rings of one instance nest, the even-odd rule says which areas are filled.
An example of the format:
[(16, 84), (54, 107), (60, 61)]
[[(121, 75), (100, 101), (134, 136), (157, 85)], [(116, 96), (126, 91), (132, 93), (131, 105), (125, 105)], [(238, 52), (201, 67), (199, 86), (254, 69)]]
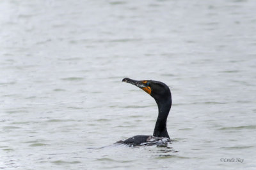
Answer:
[(162, 101), (156, 100), (156, 103), (158, 106), (158, 117), (153, 136), (170, 138), (166, 129), (166, 120), (172, 106), (172, 97), (168, 97)]

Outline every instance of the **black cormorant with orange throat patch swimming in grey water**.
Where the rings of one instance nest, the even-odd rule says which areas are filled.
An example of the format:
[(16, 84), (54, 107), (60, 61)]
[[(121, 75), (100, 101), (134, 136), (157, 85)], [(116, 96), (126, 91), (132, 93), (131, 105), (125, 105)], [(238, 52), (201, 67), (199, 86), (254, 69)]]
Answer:
[(124, 141), (117, 141), (116, 143), (124, 143), (129, 146), (166, 145), (167, 142), (170, 142), (170, 137), (166, 129), (166, 120), (172, 106), (172, 95), (169, 87), (160, 81), (154, 80), (138, 81), (130, 78), (124, 78), (122, 81), (136, 85), (152, 96), (158, 106), (158, 117), (153, 136), (137, 135)]

